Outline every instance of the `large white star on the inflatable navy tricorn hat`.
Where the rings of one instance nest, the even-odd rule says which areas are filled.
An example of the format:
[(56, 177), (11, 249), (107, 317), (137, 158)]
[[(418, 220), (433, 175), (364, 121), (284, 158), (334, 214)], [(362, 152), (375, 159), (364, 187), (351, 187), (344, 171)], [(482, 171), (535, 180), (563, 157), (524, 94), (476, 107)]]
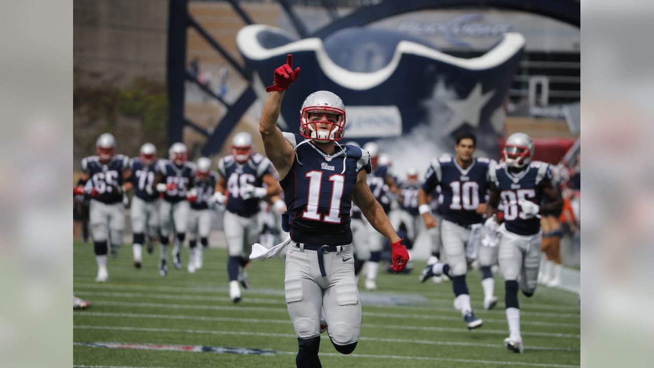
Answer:
[(479, 128), (479, 119), (481, 118), (481, 109), (486, 103), (495, 95), (493, 90), (486, 93), (481, 92), (481, 82), (475, 84), (468, 97), (462, 100), (444, 100), (443, 102), (452, 115), (447, 122), (447, 126), (443, 128), (445, 134), (454, 132), (458, 127), (468, 123), (472, 128)]

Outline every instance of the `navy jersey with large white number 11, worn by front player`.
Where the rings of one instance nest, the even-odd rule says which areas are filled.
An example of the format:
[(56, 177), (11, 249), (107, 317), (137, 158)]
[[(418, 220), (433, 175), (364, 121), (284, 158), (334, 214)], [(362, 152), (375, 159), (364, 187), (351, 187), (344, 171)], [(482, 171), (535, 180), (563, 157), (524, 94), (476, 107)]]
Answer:
[(356, 175), (371, 172), (368, 152), (353, 145), (336, 144), (326, 155), (309, 139), (284, 133), (296, 151), (284, 189), (284, 220), (295, 242), (343, 246), (352, 243), (350, 212)]

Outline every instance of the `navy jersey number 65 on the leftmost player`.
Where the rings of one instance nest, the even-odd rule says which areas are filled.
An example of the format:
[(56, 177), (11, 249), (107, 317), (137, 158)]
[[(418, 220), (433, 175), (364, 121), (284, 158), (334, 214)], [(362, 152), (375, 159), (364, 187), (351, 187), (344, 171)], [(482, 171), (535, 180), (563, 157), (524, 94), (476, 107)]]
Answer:
[(99, 193), (94, 198), (100, 202), (112, 204), (122, 202), (123, 172), (129, 166), (129, 157), (115, 155), (107, 164), (101, 163), (97, 156), (82, 158), (80, 170), (89, 174), (86, 187), (92, 187)]

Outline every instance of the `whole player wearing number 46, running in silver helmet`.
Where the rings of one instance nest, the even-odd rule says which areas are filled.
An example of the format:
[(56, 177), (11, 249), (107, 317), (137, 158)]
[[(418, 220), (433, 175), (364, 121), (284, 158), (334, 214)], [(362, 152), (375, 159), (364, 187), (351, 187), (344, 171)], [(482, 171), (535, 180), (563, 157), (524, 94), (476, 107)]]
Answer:
[(245, 288), (250, 283), (245, 267), (250, 262), (250, 246), (261, 230), (259, 202), (282, 192), (275, 168), (266, 157), (252, 151), (252, 144), (247, 132), (232, 138), (232, 155), (218, 161), (220, 176), (214, 194), (215, 202), (226, 202), (223, 221), (229, 253), (227, 274), (234, 303), (241, 301), (239, 282)]

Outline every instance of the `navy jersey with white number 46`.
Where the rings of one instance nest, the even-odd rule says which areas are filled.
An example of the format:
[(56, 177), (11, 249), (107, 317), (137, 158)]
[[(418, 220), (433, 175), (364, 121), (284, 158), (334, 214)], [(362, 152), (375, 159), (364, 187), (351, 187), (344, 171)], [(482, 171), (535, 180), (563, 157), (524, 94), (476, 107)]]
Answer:
[(252, 185), (264, 186), (264, 175), (277, 175), (273, 164), (264, 155), (255, 153), (243, 164), (236, 162), (232, 155), (224, 156), (218, 161), (218, 174), (225, 178), (227, 185), (227, 206), (229, 212), (241, 217), (250, 217), (260, 210), (259, 198), (243, 199), (241, 187)]

